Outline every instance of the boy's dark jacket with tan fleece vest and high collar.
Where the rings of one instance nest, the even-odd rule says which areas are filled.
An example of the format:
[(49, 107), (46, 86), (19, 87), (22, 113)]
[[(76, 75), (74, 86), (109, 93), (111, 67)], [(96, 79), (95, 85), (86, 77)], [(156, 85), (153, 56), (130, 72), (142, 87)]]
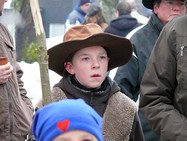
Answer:
[(65, 77), (52, 90), (52, 100), (82, 98), (100, 114), (105, 141), (143, 141), (135, 103), (107, 77), (101, 88), (89, 90), (73, 77)]

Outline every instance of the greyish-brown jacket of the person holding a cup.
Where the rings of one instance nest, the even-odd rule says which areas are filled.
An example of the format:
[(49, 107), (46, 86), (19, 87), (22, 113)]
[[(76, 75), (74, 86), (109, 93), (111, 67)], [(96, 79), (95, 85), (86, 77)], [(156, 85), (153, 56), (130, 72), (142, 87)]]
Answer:
[(23, 72), (16, 62), (12, 37), (2, 24), (0, 53), (8, 58), (14, 69), (8, 82), (0, 84), (0, 140), (24, 141), (32, 123), (33, 106), (23, 88)]

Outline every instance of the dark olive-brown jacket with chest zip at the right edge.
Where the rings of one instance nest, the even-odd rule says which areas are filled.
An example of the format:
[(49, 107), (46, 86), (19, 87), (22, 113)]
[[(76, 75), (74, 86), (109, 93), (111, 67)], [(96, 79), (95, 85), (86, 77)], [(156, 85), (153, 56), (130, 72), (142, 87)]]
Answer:
[(162, 141), (187, 141), (187, 15), (166, 24), (141, 84), (140, 110)]

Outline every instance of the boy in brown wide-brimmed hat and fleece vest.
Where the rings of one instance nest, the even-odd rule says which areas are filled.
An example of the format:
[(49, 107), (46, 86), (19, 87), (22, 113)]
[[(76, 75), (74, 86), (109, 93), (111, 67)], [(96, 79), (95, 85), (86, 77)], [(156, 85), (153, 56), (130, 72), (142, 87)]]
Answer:
[(74, 26), (48, 55), (49, 69), (63, 77), (52, 90), (53, 101), (84, 99), (103, 117), (105, 141), (144, 140), (135, 103), (107, 76), (131, 58), (128, 39), (104, 33), (93, 23)]

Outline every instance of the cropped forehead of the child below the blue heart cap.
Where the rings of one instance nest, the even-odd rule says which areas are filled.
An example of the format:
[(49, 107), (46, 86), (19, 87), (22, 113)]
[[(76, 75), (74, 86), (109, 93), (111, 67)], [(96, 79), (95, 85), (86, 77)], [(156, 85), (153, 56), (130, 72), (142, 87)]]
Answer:
[(82, 130), (72, 130), (60, 134), (53, 141), (98, 141), (91, 133)]

